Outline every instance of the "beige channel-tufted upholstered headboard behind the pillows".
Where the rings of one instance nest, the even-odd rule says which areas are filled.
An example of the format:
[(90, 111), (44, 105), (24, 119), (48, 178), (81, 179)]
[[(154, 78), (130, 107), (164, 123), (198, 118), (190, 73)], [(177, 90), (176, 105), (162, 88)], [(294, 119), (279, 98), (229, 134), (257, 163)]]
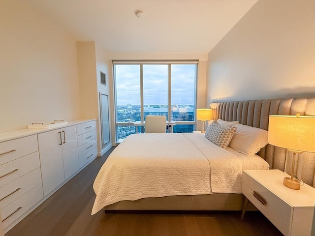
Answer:
[[(315, 97), (313, 98), (277, 98), (247, 100), (235, 102), (210, 103), (213, 119), (237, 120), (242, 124), (268, 130), (269, 115), (315, 116)], [(284, 171), (284, 148), (268, 144), (257, 154), (265, 159), (270, 169)], [(315, 153), (304, 152), (302, 180), (315, 187)]]

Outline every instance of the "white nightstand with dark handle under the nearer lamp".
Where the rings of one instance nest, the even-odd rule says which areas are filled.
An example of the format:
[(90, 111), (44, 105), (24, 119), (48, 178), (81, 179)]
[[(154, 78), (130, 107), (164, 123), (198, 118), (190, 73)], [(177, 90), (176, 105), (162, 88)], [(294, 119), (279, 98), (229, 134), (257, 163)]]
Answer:
[(280, 170), (243, 171), (242, 193), (284, 236), (311, 236), (315, 188), (307, 185), (293, 190), (283, 185), (288, 175)]

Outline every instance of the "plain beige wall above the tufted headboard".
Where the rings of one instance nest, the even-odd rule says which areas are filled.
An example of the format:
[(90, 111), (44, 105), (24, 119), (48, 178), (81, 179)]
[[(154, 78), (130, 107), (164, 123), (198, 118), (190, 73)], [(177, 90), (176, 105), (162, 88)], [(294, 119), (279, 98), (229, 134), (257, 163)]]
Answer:
[(314, 0), (258, 0), (208, 55), (208, 104), (310, 95)]

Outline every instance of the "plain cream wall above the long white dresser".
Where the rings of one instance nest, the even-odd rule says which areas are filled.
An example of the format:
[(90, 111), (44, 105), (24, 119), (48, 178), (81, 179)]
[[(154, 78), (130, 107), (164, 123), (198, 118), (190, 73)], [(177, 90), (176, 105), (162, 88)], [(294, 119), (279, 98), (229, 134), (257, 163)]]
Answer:
[(0, 132), (80, 118), (75, 39), (23, 1), (0, 1)]

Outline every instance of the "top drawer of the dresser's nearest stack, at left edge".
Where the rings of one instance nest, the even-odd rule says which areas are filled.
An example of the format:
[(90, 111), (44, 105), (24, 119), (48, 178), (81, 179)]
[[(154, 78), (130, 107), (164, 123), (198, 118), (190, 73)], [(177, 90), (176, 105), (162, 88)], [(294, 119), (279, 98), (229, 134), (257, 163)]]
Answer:
[(37, 135), (0, 143), (0, 165), (38, 151)]

